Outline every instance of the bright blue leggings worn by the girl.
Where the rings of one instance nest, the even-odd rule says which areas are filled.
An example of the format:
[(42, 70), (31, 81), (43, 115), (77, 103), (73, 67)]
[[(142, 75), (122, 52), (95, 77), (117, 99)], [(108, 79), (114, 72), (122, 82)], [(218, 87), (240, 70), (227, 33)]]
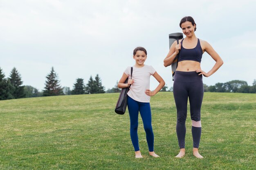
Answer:
[(130, 115), (130, 136), (135, 151), (139, 150), (139, 139), (138, 139), (138, 116), (142, 118), (144, 130), (146, 132), (146, 139), (148, 142), (148, 150), (154, 151), (154, 134), (151, 125), (151, 110), (149, 102), (137, 102), (128, 96), (128, 110)]

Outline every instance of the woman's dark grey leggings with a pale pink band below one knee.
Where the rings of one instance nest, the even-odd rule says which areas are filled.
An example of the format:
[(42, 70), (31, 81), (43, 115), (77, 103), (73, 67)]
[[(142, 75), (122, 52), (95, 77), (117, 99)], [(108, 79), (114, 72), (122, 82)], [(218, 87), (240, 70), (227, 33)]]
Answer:
[(173, 95), (177, 108), (176, 132), (180, 148), (185, 148), (186, 115), (189, 98), (192, 120), (193, 147), (198, 148), (201, 137), (201, 105), (204, 96), (202, 75), (197, 72), (175, 72)]

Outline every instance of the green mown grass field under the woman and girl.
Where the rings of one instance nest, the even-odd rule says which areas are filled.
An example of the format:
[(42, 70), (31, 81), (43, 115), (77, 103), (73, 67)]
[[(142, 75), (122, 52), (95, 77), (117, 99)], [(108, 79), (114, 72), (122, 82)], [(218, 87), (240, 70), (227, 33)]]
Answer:
[(151, 98), (155, 152), (148, 156), (139, 116), (135, 159), (128, 111), (114, 112), (119, 94), (0, 101), (0, 169), (255, 169), (256, 94), (205, 93), (200, 153), (193, 157), (190, 114), (186, 156), (179, 151), (171, 92)]

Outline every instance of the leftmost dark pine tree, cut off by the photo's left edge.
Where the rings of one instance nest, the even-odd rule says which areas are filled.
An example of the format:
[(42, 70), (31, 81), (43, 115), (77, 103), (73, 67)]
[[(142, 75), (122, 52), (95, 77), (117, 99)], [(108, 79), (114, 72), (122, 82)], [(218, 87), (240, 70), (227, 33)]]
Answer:
[(14, 90), (14, 87), (11, 85), (10, 81), (4, 77), (4, 73), (0, 68), (0, 100), (12, 99), (12, 91)]

